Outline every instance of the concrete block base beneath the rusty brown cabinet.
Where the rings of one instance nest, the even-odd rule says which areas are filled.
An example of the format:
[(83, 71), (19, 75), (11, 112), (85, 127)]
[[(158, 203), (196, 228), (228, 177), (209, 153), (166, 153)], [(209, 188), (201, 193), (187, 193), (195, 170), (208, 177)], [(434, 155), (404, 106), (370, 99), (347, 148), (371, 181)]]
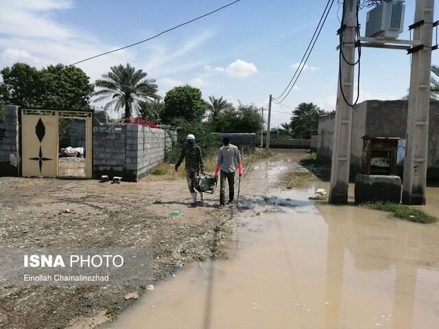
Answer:
[(363, 175), (355, 177), (355, 204), (365, 202), (401, 202), (401, 178), (396, 175)]

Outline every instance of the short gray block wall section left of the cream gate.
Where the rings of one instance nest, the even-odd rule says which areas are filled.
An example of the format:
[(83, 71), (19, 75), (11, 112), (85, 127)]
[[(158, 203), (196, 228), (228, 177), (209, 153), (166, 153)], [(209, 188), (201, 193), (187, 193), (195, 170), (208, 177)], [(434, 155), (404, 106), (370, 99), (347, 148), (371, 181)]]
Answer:
[(5, 106), (5, 122), (0, 123), (0, 176), (20, 174), (19, 107)]

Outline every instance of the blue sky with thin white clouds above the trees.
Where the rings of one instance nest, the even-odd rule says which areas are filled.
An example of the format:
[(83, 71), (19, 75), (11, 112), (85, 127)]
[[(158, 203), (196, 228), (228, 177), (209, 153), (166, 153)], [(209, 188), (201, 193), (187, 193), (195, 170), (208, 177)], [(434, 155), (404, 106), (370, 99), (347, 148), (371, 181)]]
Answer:
[[(15, 62), (37, 68), (72, 64), (150, 38), (231, 2), (0, 0), (0, 68)], [(401, 39), (410, 39), (407, 26), (413, 23), (414, 3), (405, 3)], [(94, 82), (110, 66), (129, 62), (156, 80), (162, 97), (175, 86), (190, 84), (200, 88), (206, 100), (213, 95), (235, 105), (241, 101), (265, 107), (270, 94), (278, 97), (287, 87), (326, 5), (327, 0), (241, 0), (158, 38), (77, 66)], [(361, 36), (368, 10), (359, 14)], [(289, 121), (292, 110), (304, 101), (335, 110), (340, 16), (335, 0), (298, 82), (281, 105), (273, 105), (272, 126)], [(439, 64), (439, 51), (433, 52), (432, 62)], [(362, 49), (359, 101), (399, 99), (409, 82), (406, 51)]]

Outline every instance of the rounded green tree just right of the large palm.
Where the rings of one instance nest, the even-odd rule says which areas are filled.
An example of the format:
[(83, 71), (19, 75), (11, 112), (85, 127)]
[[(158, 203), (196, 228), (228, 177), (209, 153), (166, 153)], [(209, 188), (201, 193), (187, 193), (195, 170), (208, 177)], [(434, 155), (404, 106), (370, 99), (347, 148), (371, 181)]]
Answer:
[(202, 99), (201, 90), (189, 86), (178, 86), (165, 95), (165, 109), (162, 122), (175, 124), (178, 118), (186, 121), (201, 121), (206, 112), (206, 103)]

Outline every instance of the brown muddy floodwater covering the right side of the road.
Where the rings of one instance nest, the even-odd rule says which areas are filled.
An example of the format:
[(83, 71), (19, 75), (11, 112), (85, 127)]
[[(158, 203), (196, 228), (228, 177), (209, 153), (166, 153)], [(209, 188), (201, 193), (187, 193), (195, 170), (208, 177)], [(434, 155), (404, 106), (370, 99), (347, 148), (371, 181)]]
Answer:
[(185, 267), (105, 328), (439, 328), (439, 225), (316, 205), (324, 182), (282, 191), (289, 156), (242, 182), (228, 260)]

